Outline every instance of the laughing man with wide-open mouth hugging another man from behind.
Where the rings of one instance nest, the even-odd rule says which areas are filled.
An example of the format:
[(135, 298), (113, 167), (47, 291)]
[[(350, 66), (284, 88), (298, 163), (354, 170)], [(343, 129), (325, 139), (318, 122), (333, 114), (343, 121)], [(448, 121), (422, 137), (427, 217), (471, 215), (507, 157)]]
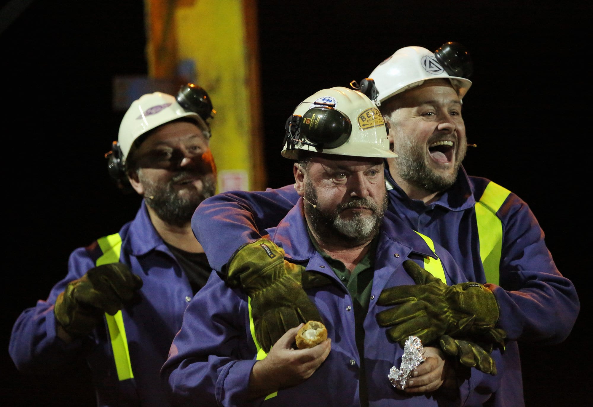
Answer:
[[(562, 342), (575, 323), (579, 300), (554, 265), (527, 204), (495, 182), (468, 176), (461, 166), (467, 148), (461, 100), (471, 86), (470, 74), (467, 49), (447, 43), (434, 54), (422, 47), (400, 49), (369, 77), (399, 155), (388, 160), (386, 173), (393, 208), (408, 225), (445, 246), (468, 280), (494, 293), (500, 309), (496, 326), (507, 334), (506, 373), (490, 402), (520, 406), (517, 340)], [(394, 287), (381, 294), (380, 302), (405, 294), (428, 306), (428, 290)], [(408, 303), (389, 312), (410, 323), (417, 306)], [(388, 325), (397, 335), (407, 334), (401, 326)]]

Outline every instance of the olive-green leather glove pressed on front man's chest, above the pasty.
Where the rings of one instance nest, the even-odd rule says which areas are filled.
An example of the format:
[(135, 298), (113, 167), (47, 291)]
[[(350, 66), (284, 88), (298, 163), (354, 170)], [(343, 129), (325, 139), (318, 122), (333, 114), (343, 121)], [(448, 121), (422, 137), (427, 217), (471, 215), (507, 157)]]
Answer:
[(302, 288), (305, 268), (286, 261), (275, 243), (259, 239), (241, 246), (227, 270), (229, 285), (241, 287), (251, 298), (256, 339), (264, 351), (301, 322), (323, 322)]

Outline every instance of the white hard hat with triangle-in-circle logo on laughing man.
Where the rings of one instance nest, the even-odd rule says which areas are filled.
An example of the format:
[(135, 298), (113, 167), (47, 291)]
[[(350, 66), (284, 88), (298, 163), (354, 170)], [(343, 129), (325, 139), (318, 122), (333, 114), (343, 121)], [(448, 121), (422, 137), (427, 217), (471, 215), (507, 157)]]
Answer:
[(461, 76), (450, 76), (435, 54), (422, 47), (405, 47), (381, 62), (369, 78), (374, 79), (379, 91), (377, 105), (388, 98), (428, 79), (449, 79), (460, 99), (466, 95), (471, 81)]

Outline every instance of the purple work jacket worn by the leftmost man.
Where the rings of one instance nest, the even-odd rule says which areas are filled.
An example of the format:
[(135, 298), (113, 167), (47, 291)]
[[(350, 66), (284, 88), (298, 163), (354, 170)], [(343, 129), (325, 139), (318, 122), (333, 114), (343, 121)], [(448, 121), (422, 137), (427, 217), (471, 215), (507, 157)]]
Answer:
[(72, 252), (68, 275), (53, 287), (47, 300), (39, 300), (35, 307), (21, 313), (12, 328), (9, 352), (18, 370), (25, 373), (52, 373), (56, 366), (68, 366), (74, 358), (85, 357), (99, 406), (167, 406), (159, 371), (181, 328), (183, 312), (193, 297), (192, 288), (152, 226), (144, 202), (136, 218), (119, 234), (120, 261), (144, 282), (136, 302), (122, 309), (133, 379), (118, 379), (106, 325), (71, 344), (56, 336), (56, 297), (66, 284), (95, 267), (103, 254), (96, 241)]

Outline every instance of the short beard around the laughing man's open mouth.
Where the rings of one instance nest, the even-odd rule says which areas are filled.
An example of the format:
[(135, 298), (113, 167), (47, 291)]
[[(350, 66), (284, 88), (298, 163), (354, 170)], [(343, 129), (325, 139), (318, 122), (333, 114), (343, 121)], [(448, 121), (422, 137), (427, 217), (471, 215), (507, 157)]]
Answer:
[(400, 148), (398, 148), (399, 157), (396, 158), (397, 174), (402, 180), (429, 193), (441, 193), (451, 188), (457, 181), (465, 149), (457, 152), (459, 158), (455, 160), (453, 174), (441, 175), (426, 164), (424, 146), (406, 143), (405, 146), (398, 147)]

